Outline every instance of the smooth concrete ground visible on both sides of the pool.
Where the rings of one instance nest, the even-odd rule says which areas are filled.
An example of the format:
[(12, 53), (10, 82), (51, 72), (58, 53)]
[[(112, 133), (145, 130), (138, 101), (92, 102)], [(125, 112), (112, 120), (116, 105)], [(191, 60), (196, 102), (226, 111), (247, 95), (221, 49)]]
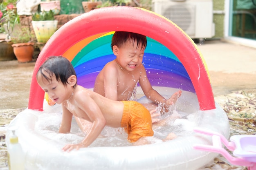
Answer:
[[(220, 40), (197, 44), (208, 66), (214, 96), (256, 91), (256, 49)], [(35, 62), (0, 62), (0, 109), (25, 108)]]

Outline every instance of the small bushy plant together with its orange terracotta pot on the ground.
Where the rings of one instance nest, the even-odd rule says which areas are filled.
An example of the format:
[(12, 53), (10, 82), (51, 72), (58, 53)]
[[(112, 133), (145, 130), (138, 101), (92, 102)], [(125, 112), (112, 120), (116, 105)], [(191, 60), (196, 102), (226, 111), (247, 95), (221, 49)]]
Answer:
[(13, 44), (13, 52), (18, 62), (30, 62), (33, 60), (34, 54), (34, 34), (31, 34), (29, 27), (21, 27), (20, 30), (13, 33), (11, 41)]

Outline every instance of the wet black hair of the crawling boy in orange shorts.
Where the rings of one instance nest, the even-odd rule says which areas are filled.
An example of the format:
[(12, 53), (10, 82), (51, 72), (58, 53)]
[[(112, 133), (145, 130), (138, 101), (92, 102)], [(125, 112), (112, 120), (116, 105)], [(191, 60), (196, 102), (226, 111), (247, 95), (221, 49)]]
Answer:
[[(50, 77), (47, 77), (43, 73), (43, 71), (47, 72)], [(58, 82), (62, 82), (65, 86), (68, 84), (67, 79), (71, 75), (76, 76), (76, 72), (71, 62), (62, 56), (51, 56), (49, 57), (39, 68), (36, 77), (40, 73), (43, 75), (48, 82), (52, 81), (52, 76), (55, 75), (56, 80)], [(75, 85), (76, 86), (76, 85)], [(75, 87), (74, 86), (74, 87)], [(73, 87), (73, 88), (74, 88)]]

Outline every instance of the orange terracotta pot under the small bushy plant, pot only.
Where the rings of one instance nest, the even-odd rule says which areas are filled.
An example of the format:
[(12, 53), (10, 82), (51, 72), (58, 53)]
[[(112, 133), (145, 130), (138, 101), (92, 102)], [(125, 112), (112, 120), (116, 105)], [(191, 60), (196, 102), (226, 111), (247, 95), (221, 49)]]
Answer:
[(13, 52), (18, 62), (31, 62), (33, 60), (34, 43), (17, 43), (11, 46), (13, 46)]

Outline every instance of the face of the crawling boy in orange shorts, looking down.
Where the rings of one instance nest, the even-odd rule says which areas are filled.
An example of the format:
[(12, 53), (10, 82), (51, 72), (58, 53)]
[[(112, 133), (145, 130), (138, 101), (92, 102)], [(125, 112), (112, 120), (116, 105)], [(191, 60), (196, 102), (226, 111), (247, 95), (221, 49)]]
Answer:
[(64, 86), (63, 83), (58, 82), (54, 74), (52, 77), (50, 77), (49, 73), (46, 71), (43, 71), (43, 74), (52, 79), (52, 81), (45, 79), (41, 73), (38, 73), (36, 79), (39, 86), (48, 94), (48, 96), (57, 104), (61, 104), (63, 101), (67, 100), (69, 97), (65, 92), (69, 85), (67, 84), (67, 86)]

